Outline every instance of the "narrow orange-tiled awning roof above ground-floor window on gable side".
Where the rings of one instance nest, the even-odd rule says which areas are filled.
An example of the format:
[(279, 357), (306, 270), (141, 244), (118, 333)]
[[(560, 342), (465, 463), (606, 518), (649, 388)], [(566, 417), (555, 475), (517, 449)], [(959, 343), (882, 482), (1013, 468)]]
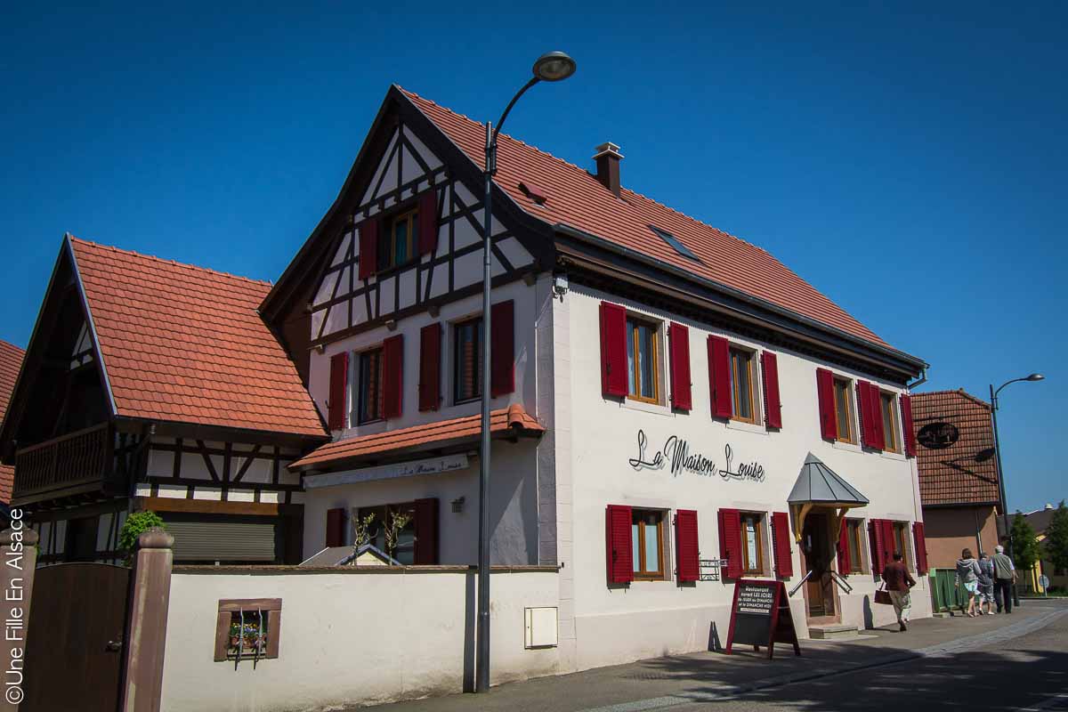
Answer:
[[(518, 404), (507, 409), (494, 410), (489, 414), (489, 430), (497, 436), (524, 434), (540, 436), (545, 428)], [(398, 455), (406, 450), (441, 447), (446, 443), (457, 443), (476, 439), (482, 432), (482, 416), (467, 415), (447, 421), (414, 425), (399, 430), (390, 430), (373, 436), (346, 438), (327, 443), (289, 464), (290, 470), (326, 469), (360, 458), (381, 458)]]

